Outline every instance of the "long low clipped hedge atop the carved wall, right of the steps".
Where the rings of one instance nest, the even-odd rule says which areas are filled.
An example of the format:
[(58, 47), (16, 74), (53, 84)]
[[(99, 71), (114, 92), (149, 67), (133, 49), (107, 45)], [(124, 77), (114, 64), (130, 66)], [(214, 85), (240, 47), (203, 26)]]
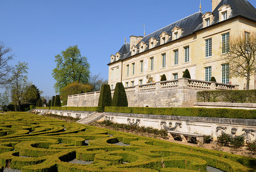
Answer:
[(256, 110), (226, 108), (105, 107), (105, 112), (212, 118), (256, 119)]

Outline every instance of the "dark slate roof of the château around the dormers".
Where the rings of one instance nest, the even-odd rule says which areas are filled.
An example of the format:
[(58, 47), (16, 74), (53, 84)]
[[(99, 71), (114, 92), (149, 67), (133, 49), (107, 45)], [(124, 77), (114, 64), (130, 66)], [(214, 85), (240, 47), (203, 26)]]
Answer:
[[(215, 17), (213, 18), (213, 22), (211, 23), (211, 25), (209, 27), (211, 27), (213, 24), (219, 23), (218, 9), (222, 5), (225, 5), (225, 4), (231, 5), (232, 10), (231, 10), (231, 15), (229, 16), (229, 18), (243, 16), (245, 18), (256, 21), (256, 9), (253, 7), (253, 5), (251, 3), (248, 2), (248, 0), (222, 0), (213, 11), (213, 15)], [(146, 35), (141, 41), (148, 44), (149, 39), (151, 37), (159, 40), (160, 39), (159, 36), (164, 31), (164, 32), (170, 34), (170, 39), (167, 40), (166, 43), (171, 42), (172, 41), (172, 29), (175, 26), (182, 28), (184, 30), (184, 32), (182, 33), (180, 38), (186, 37), (190, 34), (193, 34), (195, 31), (203, 29), (203, 19), (202, 19), (203, 14), (204, 13), (199, 11), (199, 12), (194, 13), (188, 17), (182, 18), (181, 20), (178, 20), (177, 22), (169, 24), (168, 26), (166, 26), (164, 28), (161, 28), (153, 33), (150, 33), (149, 35)], [(139, 43), (136, 46), (138, 46)], [(158, 43), (155, 45), (155, 47), (157, 47), (159, 45), (160, 45), (160, 41), (158, 41)], [(146, 51), (148, 49), (149, 49), (149, 46), (147, 46), (144, 51)], [(123, 46), (118, 51), (119, 53), (121, 53), (121, 56), (117, 61), (129, 58), (131, 56), (131, 52), (129, 52), (129, 51), (130, 51), (130, 43), (124, 43)], [(140, 53), (139, 50), (137, 53)], [(108, 63), (108, 65), (109, 64), (110, 63)]]

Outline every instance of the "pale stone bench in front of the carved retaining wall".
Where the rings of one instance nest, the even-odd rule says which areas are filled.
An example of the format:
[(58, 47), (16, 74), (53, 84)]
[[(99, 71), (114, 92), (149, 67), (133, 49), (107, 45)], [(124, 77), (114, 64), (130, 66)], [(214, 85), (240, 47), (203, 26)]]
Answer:
[(204, 143), (204, 135), (203, 134), (196, 134), (196, 133), (186, 133), (181, 131), (167, 131), (168, 136), (171, 140), (174, 140), (174, 134), (179, 134), (182, 138), (182, 142), (188, 143), (188, 136), (196, 137), (198, 143)]

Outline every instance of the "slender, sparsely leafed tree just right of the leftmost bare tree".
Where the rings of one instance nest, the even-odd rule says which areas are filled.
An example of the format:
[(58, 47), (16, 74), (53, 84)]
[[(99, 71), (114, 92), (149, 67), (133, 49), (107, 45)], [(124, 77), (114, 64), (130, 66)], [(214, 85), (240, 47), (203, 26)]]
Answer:
[(24, 101), (24, 93), (27, 88), (32, 84), (28, 81), (27, 75), (28, 63), (18, 62), (13, 70), (13, 76), (11, 77), (11, 99), (17, 103), (18, 110), (20, 111), (20, 104)]

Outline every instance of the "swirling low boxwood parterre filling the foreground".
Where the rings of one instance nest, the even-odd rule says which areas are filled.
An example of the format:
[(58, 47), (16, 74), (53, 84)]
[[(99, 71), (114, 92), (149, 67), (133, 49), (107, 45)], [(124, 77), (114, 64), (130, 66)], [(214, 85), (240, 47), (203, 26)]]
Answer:
[[(29, 113), (0, 115), (0, 172), (256, 171), (256, 159)], [(130, 146), (119, 146), (121, 142)], [(89, 142), (89, 144), (87, 144)], [(15, 151), (14, 151), (15, 150)], [(93, 161), (73, 164), (73, 159)]]

